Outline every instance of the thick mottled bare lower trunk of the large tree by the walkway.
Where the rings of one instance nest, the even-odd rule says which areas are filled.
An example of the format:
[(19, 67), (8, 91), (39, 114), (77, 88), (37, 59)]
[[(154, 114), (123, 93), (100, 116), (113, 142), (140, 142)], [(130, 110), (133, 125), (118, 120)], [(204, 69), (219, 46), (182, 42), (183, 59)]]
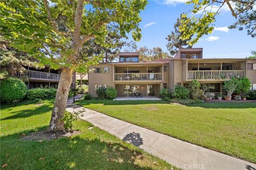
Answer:
[(62, 117), (66, 110), (68, 100), (68, 92), (72, 83), (73, 69), (64, 68), (60, 75), (60, 82), (55, 97), (54, 107), (52, 110), (52, 117), (49, 125), (50, 131), (64, 130), (64, 123)]

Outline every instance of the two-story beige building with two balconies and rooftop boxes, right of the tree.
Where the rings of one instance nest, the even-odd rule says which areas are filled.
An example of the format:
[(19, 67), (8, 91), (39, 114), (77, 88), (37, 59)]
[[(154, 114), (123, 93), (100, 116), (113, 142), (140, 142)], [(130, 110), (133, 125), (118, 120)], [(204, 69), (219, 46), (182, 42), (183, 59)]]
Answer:
[(186, 86), (191, 80), (213, 84), (209, 95), (225, 95), (223, 82), (247, 77), (256, 89), (256, 59), (203, 59), (202, 48), (181, 48), (173, 59), (139, 62), (139, 53), (120, 53), (119, 62), (91, 66), (89, 93), (101, 86), (117, 89), (118, 96), (159, 96), (161, 88)]

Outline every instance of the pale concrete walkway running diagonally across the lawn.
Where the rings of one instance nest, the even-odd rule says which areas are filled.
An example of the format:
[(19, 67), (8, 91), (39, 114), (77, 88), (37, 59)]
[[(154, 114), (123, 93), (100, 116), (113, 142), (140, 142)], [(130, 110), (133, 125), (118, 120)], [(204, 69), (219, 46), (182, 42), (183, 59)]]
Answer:
[(182, 169), (256, 169), (255, 164), (247, 161), (77, 106), (72, 101), (69, 99), (67, 111), (83, 111), (81, 119)]

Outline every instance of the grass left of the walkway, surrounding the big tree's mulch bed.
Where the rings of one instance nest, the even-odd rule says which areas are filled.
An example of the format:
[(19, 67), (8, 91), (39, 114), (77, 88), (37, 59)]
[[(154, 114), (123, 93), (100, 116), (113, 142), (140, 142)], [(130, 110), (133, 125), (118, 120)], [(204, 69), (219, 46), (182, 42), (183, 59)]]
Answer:
[[(21, 134), (47, 128), (53, 100), (1, 108), (1, 166), (4, 169), (171, 169), (165, 161), (78, 120), (81, 134), (58, 140), (22, 141)], [(175, 169), (175, 167), (173, 167)]]

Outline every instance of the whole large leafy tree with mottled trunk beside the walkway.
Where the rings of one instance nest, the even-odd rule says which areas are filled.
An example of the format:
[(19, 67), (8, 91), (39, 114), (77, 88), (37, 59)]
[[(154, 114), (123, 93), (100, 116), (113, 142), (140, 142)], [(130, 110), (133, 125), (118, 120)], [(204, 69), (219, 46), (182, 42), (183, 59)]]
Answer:
[(138, 41), (141, 38), (139, 14), (146, 4), (146, 0), (0, 2), (0, 31), (4, 38), (12, 41), (10, 46), (33, 55), (51, 68), (62, 68), (49, 125), (51, 131), (65, 128), (62, 118), (73, 71), (86, 72), (88, 66), (102, 59), (93, 51), (86, 52), (95, 44), (113, 47), (112, 41), (106, 41), (108, 35), (127, 38), (126, 34), (131, 33)]

